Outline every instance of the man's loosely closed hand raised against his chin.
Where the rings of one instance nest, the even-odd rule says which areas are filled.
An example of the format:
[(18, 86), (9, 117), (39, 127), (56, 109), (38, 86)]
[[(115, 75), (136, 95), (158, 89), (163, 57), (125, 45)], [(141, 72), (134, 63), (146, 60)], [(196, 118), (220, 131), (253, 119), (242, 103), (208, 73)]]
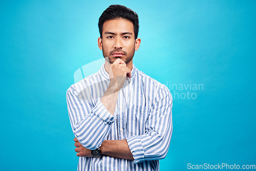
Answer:
[(120, 58), (111, 63), (110, 67), (110, 81), (112, 85), (116, 86), (116, 90), (119, 91), (123, 87), (126, 77), (131, 78), (131, 70), (126, 67), (126, 63)]

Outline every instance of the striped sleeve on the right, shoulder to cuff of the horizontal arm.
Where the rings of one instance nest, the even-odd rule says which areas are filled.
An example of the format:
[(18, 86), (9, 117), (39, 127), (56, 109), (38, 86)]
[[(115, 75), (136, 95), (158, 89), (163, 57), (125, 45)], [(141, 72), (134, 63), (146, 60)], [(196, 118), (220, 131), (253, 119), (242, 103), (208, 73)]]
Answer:
[(154, 98), (145, 134), (126, 138), (135, 164), (144, 160), (163, 159), (166, 156), (173, 131), (172, 106), (172, 95), (163, 86)]

